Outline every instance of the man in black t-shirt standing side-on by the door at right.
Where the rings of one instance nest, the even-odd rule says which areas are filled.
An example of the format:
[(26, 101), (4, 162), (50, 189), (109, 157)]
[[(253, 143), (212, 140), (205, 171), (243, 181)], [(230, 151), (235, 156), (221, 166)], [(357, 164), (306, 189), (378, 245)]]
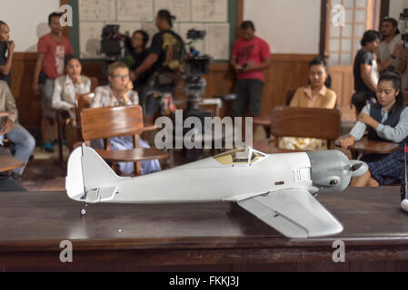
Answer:
[(354, 59), (353, 76), (354, 90), (352, 103), (357, 113), (363, 110), (367, 102), (375, 99), (378, 82), (378, 68), (374, 59), (380, 46), (381, 34), (377, 31), (366, 31), (362, 39), (362, 49)]

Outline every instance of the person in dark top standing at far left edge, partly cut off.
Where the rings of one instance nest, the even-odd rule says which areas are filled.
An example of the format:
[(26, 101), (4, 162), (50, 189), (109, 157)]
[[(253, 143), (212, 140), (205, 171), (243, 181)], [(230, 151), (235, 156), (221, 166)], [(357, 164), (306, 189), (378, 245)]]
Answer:
[[(7, 55), (8, 52), (8, 55)], [(15, 52), (15, 42), (10, 41), (10, 28), (0, 21), (0, 80), (11, 88), (11, 65)]]

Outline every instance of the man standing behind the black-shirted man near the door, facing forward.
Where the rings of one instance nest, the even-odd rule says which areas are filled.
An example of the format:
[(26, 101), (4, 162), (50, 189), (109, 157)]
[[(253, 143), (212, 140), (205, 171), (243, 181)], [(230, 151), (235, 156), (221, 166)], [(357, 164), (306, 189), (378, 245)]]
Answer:
[(378, 70), (380, 73), (395, 71), (401, 63), (400, 50), (402, 47), (398, 22), (391, 17), (385, 17), (381, 24), (381, 34), (382, 42), (377, 51)]

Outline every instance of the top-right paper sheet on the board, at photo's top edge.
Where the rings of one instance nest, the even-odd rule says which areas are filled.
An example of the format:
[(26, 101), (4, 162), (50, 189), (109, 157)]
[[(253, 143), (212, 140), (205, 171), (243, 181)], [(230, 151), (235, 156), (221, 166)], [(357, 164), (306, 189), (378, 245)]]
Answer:
[(193, 22), (227, 22), (227, 0), (192, 0)]

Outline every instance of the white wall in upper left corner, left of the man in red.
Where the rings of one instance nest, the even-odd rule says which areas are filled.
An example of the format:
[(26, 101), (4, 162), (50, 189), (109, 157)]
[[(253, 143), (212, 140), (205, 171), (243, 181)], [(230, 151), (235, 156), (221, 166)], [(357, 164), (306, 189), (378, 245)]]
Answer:
[(48, 15), (59, 10), (59, 0), (0, 0), (1, 16), (10, 27), (15, 52), (36, 52), (38, 38), (49, 32)]

